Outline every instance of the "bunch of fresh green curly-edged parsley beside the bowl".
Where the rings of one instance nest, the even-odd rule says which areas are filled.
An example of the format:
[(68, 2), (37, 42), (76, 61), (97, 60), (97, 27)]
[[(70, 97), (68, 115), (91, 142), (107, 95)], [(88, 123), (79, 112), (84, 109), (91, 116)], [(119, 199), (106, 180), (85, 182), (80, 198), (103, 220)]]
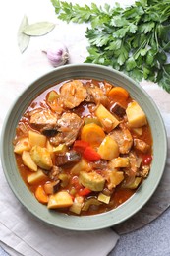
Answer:
[(85, 62), (111, 66), (138, 81), (158, 83), (170, 93), (170, 0), (139, 0), (126, 8), (51, 2), (59, 19), (89, 23)]

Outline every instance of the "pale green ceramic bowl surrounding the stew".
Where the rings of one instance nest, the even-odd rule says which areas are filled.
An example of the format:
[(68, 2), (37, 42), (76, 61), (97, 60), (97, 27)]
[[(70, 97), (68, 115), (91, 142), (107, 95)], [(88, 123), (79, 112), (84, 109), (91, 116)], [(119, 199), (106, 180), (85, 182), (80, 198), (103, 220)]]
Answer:
[[(104, 214), (89, 217), (67, 216), (49, 211), (46, 206), (38, 203), (30, 193), (18, 171), (13, 153), (12, 141), (16, 126), (30, 101), (56, 82), (72, 78), (93, 78), (107, 80), (110, 83), (127, 89), (142, 106), (147, 115), (153, 136), (153, 162), (150, 174), (138, 191), (117, 209)], [(96, 230), (120, 224), (137, 213), (156, 190), (162, 177), (167, 157), (167, 137), (161, 115), (142, 87), (129, 77), (110, 68), (100, 65), (80, 64), (66, 65), (34, 81), (13, 104), (4, 122), (1, 140), (1, 159), (6, 179), (20, 202), (47, 224), (71, 230)]]

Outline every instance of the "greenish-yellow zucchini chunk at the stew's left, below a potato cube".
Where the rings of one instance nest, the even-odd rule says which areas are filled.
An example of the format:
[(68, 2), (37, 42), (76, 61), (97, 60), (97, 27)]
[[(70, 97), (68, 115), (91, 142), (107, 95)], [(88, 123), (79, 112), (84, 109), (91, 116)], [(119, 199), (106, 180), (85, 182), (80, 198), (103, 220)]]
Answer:
[(50, 170), (53, 166), (51, 155), (46, 148), (33, 146), (30, 150), (31, 159), (42, 169)]

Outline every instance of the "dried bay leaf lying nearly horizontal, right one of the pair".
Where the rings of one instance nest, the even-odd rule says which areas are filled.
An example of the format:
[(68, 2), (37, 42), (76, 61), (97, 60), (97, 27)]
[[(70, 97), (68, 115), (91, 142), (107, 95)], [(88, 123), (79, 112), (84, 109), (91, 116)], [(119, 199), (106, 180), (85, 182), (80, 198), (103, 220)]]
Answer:
[(40, 36), (48, 32), (51, 32), (55, 27), (55, 24), (49, 22), (39, 22), (30, 24), (23, 29), (23, 33), (31, 36)]

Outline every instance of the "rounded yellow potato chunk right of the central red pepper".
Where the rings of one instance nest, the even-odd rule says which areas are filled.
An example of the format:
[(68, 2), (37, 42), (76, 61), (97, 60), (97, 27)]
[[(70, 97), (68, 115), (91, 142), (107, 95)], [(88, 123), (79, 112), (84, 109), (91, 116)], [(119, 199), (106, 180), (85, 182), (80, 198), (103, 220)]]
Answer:
[(108, 135), (100, 144), (98, 153), (103, 160), (112, 160), (119, 156), (119, 146), (117, 142)]

